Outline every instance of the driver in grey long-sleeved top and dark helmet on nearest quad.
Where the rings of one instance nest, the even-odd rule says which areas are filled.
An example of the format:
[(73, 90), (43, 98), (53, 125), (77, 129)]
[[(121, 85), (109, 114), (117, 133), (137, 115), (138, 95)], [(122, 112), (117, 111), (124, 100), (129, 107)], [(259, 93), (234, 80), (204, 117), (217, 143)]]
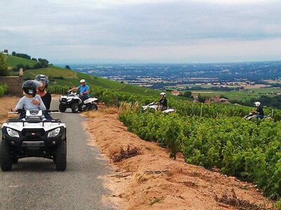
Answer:
[[(22, 90), (25, 92), (25, 96), (20, 99), (17, 106), (13, 109), (13, 111), (18, 111), (18, 109), (29, 110), (29, 111), (39, 111), (46, 110), (44, 103), (42, 102), (41, 97), (37, 95), (37, 82), (34, 80), (27, 80), (22, 85)], [(25, 115), (21, 115), (20, 119), (25, 118)]]

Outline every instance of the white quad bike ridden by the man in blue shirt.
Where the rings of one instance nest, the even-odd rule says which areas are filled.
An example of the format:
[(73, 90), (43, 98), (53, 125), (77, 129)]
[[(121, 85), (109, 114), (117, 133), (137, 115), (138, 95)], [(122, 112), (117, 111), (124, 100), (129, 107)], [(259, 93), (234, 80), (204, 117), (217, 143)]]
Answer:
[(83, 106), (81, 106), (81, 103), (82, 101), (78, 97), (78, 94), (76, 92), (71, 92), (70, 94), (60, 97), (58, 109), (61, 112), (65, 112), (67, 108), (70, 108), (73, 113), (77, 113), (78, 111), (98, 110), (98, 99), (96, 97), (89, 97), (89, 99), (86, 99)]

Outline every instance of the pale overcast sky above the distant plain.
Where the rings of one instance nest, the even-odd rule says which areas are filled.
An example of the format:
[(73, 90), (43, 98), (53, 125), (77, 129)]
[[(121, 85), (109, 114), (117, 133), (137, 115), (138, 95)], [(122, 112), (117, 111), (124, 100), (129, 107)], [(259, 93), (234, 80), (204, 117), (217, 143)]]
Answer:
[(281, 1), (1, 0), (0, 51), (52, 63), (281, 59)]

